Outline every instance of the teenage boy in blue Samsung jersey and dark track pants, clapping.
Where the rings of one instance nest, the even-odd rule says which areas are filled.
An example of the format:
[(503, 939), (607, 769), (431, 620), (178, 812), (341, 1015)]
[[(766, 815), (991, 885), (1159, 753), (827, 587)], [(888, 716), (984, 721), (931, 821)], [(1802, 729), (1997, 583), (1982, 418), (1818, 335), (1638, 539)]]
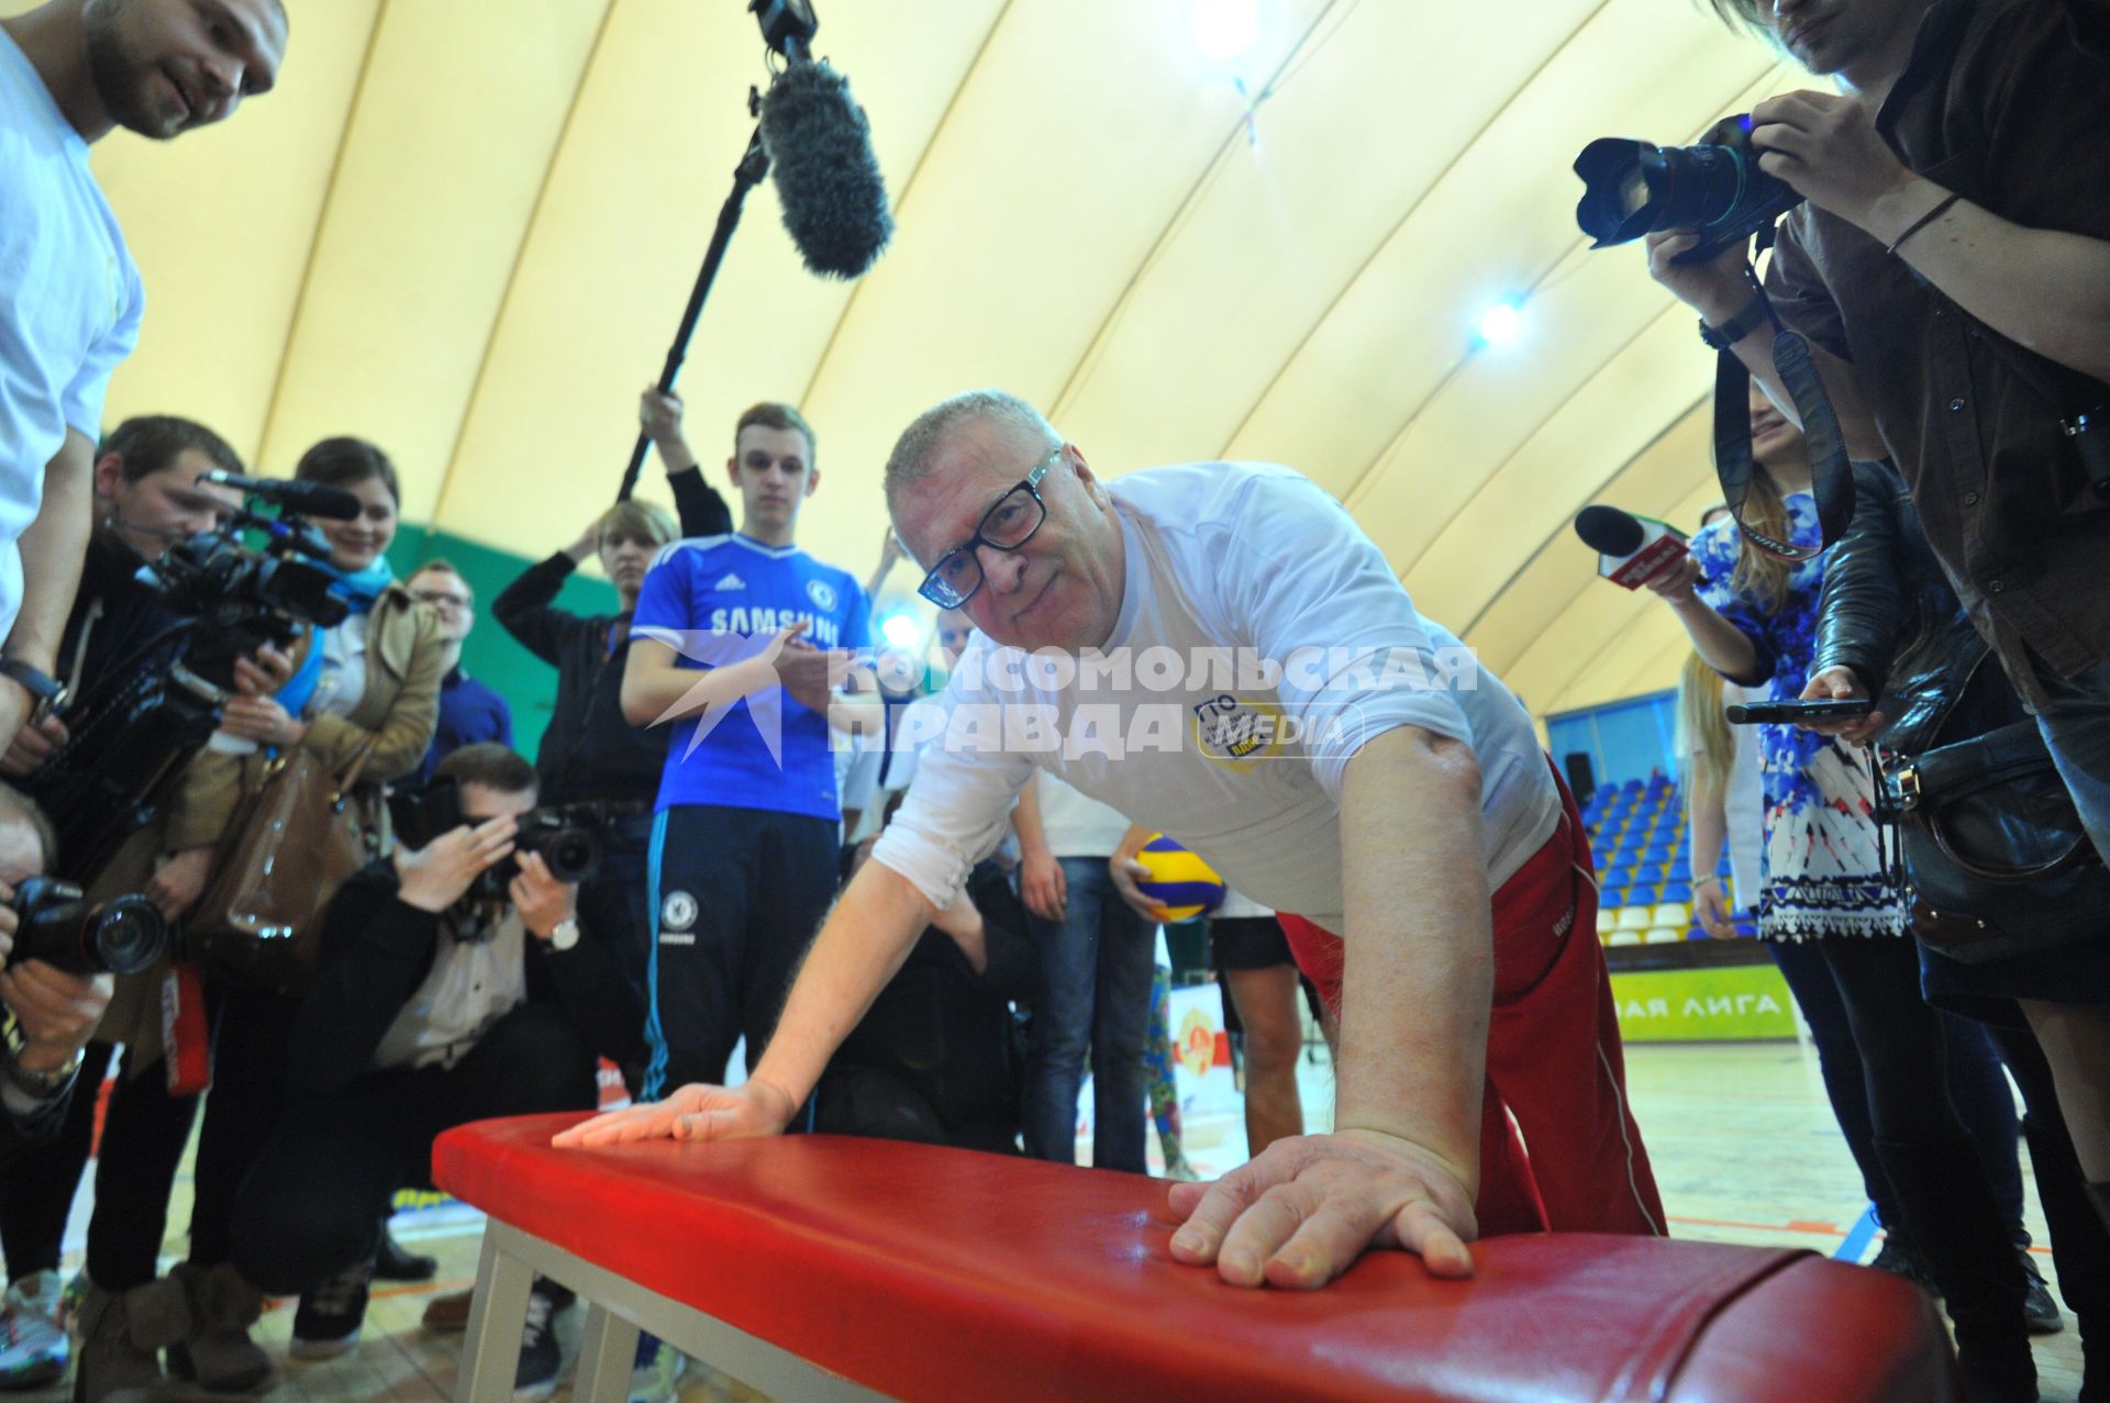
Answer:
[(641, 1099), (753, 1068), (836, 892), (842, 810), (827, 707), (871, 601), (848, 570), (793, 544), (821, 483), (789, 405), (741, 416), (726, 470), (741, 530), (660, 551), (637, 597), (622, 713), (671, 722), (652, 825)]

